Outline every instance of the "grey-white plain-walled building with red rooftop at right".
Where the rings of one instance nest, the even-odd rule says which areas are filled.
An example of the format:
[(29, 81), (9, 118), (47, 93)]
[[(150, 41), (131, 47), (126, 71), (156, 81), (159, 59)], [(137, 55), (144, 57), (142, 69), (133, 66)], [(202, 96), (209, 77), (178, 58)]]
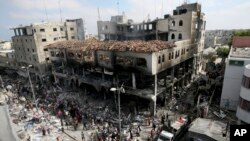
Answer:
[(245, 66), (250, 64), (250, 37), (234, 37), (226, 60), (220, 107), (237, 109)]

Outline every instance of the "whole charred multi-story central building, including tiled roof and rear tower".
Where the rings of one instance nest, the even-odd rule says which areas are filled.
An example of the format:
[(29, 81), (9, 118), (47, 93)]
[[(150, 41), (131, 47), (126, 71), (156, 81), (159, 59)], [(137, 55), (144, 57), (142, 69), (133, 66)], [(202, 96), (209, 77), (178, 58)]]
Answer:
[[(164, 103), (201, 67), (205, 21), (200, 10), (200, 4), (184, 4), (173, 16), (139, 25), (123, 16), (98, 21), (99, 35), (105, 41), (62, 41), (47, 46), (53, 74), (61, 84), (92, 88), (104, 95), (124, 83), (126, 94), (152, 109), (156, 99)], [(122, 41), (106, 41), (116, 39)]]

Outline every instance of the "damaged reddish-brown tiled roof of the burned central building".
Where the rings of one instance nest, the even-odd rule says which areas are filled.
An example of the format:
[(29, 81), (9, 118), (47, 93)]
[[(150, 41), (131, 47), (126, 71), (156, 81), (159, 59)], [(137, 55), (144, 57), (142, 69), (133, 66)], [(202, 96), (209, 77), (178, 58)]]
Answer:
[(172, 48), (176, 45), (173, 42), (151, 40), (130, 40), (130, 41), (98, 41), (91, 38), (85, 41), (60, 41), (47, 45), (45, 48), (69, 49), (71, 51), (85, 50), (110, 50), (110, 51), (131, 51), (131, 52), (157, 52), (163, 49)]

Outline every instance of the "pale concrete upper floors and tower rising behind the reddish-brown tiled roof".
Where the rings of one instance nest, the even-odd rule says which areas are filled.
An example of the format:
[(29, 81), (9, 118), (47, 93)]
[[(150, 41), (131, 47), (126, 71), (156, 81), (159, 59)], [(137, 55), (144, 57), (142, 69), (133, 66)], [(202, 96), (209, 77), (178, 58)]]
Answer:
[(112, 16), (110, 21), (98, 21), (98, 35), (103, 40), (190, 40), (197, 46), (194, 52), (196, 73), (201, 70), (202, 50), (204, 48), (206, 21), (201, 5), (198, 3), (178, 6), (173, 15), (166, 14), (163, 19), (135, 23), (125, 14)]

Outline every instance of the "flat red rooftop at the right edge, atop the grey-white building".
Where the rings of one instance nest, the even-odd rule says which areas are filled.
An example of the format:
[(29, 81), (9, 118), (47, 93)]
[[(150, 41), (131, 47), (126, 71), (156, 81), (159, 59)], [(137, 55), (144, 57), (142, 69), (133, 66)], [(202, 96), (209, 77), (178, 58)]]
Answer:
[(250, 47), (250, 36), (234, 36), (232, 45), (234, 48)]

